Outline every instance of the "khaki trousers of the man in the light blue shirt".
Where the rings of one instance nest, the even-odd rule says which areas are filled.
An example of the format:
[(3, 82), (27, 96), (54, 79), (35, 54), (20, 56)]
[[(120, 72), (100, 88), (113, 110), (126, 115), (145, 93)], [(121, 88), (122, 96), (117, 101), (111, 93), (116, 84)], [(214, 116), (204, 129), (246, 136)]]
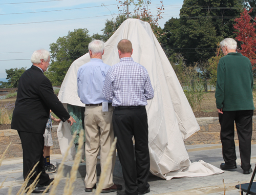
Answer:
[[(100, 167), (103, 170), (110, 147), (114, 141), (112, 125), (113, 107), (109, 105), (109, 112), (102, 112), (102, 105), (86, 106), (84, 113), (84, 127), (86, 130), (86, 178), (84, 183), (87, 188), (92, 188), (97, 182), (96, 164), (100, 150)], [(106, 169), (104, 188), (109, 188), (113, 183), (113, 170), (116, 154), (113, 154), (112, 164)]]

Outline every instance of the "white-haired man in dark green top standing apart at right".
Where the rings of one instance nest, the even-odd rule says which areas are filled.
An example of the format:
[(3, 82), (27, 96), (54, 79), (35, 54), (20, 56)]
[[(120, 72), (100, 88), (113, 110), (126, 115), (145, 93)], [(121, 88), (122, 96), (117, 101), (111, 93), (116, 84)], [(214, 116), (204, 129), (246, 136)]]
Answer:
[(224, 57), (218, 64), (216, 105), (221, 125), (222, 155), (225, 163), (222, 170), (237, 168), (236, 146), (234, 144), (234, 122), (237, 127), (241, 168), (250, 174), (251, 135), (253, 116), (253, 77), (250, 60), (236, 53), (237, 42), (225, 38), (220, 42)]

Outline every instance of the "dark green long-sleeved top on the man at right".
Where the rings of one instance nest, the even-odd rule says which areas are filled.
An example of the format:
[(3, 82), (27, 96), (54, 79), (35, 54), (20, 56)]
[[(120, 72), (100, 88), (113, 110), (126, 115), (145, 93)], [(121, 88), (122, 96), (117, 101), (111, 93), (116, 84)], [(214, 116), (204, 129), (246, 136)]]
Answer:
[(223, 111), (254, 110), (250, 60), (241, 53), (222, 57), (217, 69), (216, 105)]

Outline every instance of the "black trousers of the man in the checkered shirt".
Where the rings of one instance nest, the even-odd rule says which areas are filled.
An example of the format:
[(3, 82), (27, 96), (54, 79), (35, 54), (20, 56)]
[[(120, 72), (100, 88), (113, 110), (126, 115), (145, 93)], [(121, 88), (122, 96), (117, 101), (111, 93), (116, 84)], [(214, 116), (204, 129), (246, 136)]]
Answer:
[[(148, 124), (145, 106), (115, 107), (113, 130), (117, 137), (117, 151), (122, 165), (126, 194), (137, 195), (150, 187), (150, 154), (148, 151)], [(131, 109), (132, 108), (132, 109)], [(135, 139), (135, 156), (133, 138)]]

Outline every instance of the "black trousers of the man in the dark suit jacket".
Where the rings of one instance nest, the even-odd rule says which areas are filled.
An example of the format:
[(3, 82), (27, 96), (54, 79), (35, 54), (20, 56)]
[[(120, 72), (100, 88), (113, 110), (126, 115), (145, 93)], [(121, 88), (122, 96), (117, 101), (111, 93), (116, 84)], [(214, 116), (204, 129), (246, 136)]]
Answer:
[(45, 139), (44, 135), (30, 133), (30, 132), (21, 132), (18, 131), (20, 140), (22, 141), (23, 149), (23, 178), (26, 180), (29, 172), (32, 170), (34, 165), (39, 161), (38, 165), (35, 167), (34, 176), (29, 180), (27, 186), (33, 183), (37, 175), (41, 172), (39, 176), (39, 182), (37, 186), (44, 186), (50, 178), (45, 171), (45, 159), (44, 159), (44, 144)]

